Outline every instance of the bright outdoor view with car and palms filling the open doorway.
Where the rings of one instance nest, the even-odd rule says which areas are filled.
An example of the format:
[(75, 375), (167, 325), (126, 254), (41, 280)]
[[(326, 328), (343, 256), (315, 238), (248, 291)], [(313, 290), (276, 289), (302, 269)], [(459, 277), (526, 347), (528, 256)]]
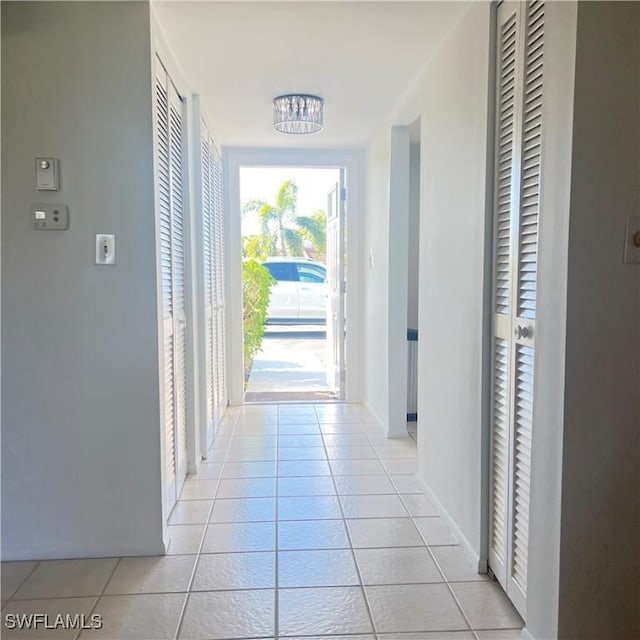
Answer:
[(245, 402), (343, 398), (343, 174), (240, 169)]

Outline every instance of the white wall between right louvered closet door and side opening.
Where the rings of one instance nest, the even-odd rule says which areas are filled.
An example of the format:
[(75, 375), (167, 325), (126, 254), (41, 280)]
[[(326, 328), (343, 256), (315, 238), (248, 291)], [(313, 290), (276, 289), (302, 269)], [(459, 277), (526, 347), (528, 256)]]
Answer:
[(476, 558), (481, 540), (488, 4), (430, 61), (421, 96), (418, 474)]

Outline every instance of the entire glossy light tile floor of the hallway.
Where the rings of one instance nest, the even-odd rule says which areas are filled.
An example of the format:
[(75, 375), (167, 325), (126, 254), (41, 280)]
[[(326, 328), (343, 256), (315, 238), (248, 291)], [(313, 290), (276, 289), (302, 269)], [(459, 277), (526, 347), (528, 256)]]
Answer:
[(3, 618), (100, 614), (102, 629), (0, 635), (515, 640), (522, 620), (422, 494), (415, 458), (361, 407), (230, 410), (166, 556), (3, 563)]

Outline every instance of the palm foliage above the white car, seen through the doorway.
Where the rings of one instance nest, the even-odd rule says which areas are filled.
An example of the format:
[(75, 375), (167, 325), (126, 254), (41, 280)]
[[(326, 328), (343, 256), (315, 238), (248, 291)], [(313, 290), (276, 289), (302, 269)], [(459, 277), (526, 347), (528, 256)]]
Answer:
[(301, 256), (306, 241), (315, 253), (324, 257), (326, 213), (318, 210), (311, 216), (299, 216), (297, 205), (298, 185), (293, 180), (285, 180), (280, 185), (273, 204), (260, 199), (246, 201), (242, 206), (243, 214), (257, 213), (261, 228), (261, 236), (247, 243), (247, 249), (255, 245), (261, 253), (265, 247), (270, 247), (273, 254)]

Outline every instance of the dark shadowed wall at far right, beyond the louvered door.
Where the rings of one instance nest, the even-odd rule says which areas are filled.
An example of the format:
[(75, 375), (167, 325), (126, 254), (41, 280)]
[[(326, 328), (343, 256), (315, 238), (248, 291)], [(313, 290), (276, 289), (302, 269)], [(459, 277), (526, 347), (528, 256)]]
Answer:
[(637, 638), (639, 4), (578, 4), (575, 76), (558, 636)]

